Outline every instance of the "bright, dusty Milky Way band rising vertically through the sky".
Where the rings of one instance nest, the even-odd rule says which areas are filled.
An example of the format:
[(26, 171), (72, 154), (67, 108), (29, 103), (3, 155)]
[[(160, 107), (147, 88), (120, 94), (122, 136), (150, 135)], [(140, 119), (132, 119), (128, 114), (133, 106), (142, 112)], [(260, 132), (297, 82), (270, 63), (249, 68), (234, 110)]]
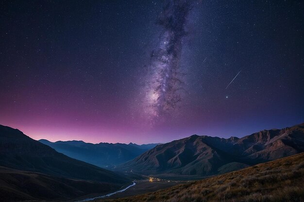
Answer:
[(163, 31), (159, 44), (151, 53), (150, 78), (143, 102), (145, 112), (153, 122), (173, 115), (183, 102), (185, 73), (180, 70), (179, 62), (191, 8), (190, 1), (170, 0), (157, 19)]

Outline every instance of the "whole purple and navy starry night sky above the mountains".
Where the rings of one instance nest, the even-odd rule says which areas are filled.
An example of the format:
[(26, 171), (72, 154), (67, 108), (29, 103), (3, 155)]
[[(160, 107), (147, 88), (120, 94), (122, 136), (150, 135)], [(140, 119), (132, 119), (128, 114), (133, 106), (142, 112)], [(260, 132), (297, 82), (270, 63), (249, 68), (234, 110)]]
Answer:
[(36, 140), (304, 122), (302, 0), (7, 0), (0, 24), (0, 124)]

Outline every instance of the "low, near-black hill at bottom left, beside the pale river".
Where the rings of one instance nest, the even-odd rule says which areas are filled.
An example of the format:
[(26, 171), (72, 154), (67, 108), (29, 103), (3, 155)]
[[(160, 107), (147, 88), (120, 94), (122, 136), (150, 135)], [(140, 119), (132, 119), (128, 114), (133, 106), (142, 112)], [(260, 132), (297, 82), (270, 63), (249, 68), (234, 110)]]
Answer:
[(2, 202), (61, 201), (84, 197), (87, 194), (103, 195), (119, 188), (115, 183), (69, 179), (0, 167)]

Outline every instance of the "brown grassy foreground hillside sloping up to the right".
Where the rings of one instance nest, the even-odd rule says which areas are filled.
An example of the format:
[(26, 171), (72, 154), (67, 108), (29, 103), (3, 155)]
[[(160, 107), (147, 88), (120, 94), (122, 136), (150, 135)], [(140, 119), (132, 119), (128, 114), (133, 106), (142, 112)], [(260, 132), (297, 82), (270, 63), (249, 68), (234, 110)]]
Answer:
[(304, 153), (301, 153), (149, 194), (101, 201), (303, 202), (303, 182)]

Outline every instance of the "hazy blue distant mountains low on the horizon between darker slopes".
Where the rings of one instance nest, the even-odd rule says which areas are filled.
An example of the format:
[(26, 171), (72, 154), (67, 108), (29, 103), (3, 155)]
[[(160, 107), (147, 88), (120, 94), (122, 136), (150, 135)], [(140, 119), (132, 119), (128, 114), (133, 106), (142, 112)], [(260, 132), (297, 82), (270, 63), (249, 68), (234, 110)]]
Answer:
[(113, 144), (103, 142), (92, 144), (77, 140), (56, 142), (51, 142), (49, 140), (39, 141), (55, 149), (57, 152), (99, 167), (115, 166), (127, 162), (158, 145), (137, 145), (134, 143)]

